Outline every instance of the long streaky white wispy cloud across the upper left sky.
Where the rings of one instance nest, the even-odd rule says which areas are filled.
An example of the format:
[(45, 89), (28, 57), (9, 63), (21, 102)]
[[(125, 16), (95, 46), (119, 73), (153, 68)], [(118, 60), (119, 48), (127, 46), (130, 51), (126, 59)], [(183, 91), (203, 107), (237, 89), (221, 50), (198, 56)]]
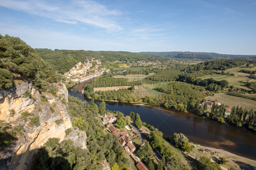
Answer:
[[(122, 27), (116, 24), (122, 14), (120, 11), (109, 10), (104, 5), (94, 1), (75, 0), (72, 2), (65, 1), (61, 4), (62, 2), (50, 4), (44, 3), (44, 1), (5, 0), (1, 2), (0, 6), (32, 15), (49, 17), (58, 22), (82, 23), (105, 29), (111, 28), (111, 30), (116, 31), (122, 30)], [(53, 11), (57, 15), (52, 14)]]

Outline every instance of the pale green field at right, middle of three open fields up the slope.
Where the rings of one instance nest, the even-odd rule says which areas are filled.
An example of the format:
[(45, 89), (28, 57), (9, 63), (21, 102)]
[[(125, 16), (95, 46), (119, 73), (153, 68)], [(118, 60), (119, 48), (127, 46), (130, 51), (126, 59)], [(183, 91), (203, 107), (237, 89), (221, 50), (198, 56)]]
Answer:
[(239, 81), (245, 81), (245, 82), (246, 82), (246, 80), (255, 81), (255, 80), (253, 80), (251, 78), (238, 77), (238, 76), (228, 76), (228, 75), (221, 75), (221, 74), (202, 76), (202, 77), (198, 77), (198, 78), (202, 78), (202, 79), (213, 78), (214, 80), (218, 80), (218, 81), (220, 81), (220, 80), (227, 80), (229, 85), (234, 85), (234, 86), (236, 86), (238, 88), (244, 88), (244, 89), (247, 89), (247, 90), (251, 90), (251, 89), (247, 88), (245, 83), (242, 83), (242, 82), (239, 82)]

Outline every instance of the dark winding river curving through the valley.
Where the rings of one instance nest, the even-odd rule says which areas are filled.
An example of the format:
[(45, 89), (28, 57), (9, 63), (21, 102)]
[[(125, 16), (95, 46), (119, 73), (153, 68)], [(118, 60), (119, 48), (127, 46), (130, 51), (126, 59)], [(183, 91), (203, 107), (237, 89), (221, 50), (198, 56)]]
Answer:
[[(69, 89), (68, 94), (90, 103), (90, 99), (82, 94), (84, 86), (90, 81), (86, 80), (73, 86), (73, 91)], [(159, 129), (164, 137), (172, 136), (173, 133), (183, 133), (193, 144), (222, 149), (256, 160), (255, 132), (160, 106), (105, 102), (108, 110), (118, 110), (124, 115), (129, 115), (130, 112), (138, 113), (142, 122)], [(95, 100), (95, 103), (100, 106), (100, 100)]]

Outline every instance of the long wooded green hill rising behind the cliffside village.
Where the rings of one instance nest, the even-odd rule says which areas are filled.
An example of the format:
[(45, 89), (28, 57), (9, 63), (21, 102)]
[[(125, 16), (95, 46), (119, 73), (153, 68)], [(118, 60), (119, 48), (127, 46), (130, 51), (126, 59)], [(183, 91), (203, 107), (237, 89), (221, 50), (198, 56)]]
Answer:
[[(127, 51), (85, 51), (85, 50), (51, 50), (47, 48), (36, 48), (37, 54), (40, 55), (45, 61), (54, 65), (54, 68), (59, 73), (67, 72), (69, 69), (75, 66), (76, 63), (86, 61), (90, 57), (100, 59), (102, 64), (108, 62), (118, 61), (157, 61), (157, 60), (169, 60), (166, 57), (138, 54)], [(103, 57), (102, 57), (103, 56)], [(87, 61), (86, 61), (87, 62)]]

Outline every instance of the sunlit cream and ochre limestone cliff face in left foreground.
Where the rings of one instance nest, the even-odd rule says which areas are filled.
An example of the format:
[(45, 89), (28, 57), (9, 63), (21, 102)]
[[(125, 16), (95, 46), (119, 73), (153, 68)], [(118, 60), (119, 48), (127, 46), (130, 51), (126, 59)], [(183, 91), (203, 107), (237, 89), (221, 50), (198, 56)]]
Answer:
[[(59, 97), (45, 93), (48, 98), (45, 102), (41, 101), (40, 94), (32, 83), (22, 82), (8, 90), (0, 90), (0, 120), (4, 120), (11, 128), (22, 125), (25, 129), (23, 135), (15, 136), (15, 142), (8, 148), (0, 148), (1, 170), (31, 169), (33, 155), (52, 137), (60, 138), (60, 141), (71, 139), (76, 146), (86, 148), (86, 133), (72, 127), (66, 105), (61, 103), (63, 98), (68, 101), (68, 90), (63, 83), (57, 86)], [(27, 90), (31, 91), (35, 100), (23, 97)], [(10, 115), (12, 109), (15, 111), (13, 116)], [(30, 124), (29, 119), (33, 116), (29, 116), (25, 122), (24, 116), (21, 115), (25, 111), (33, 113), (34, 116), (39, 115), (40, 125)], [(63, 121), (57, 121), (58, 119)], [(71, 128), (72, 132), (66, 136), (65, 130), (68, 128)]]

